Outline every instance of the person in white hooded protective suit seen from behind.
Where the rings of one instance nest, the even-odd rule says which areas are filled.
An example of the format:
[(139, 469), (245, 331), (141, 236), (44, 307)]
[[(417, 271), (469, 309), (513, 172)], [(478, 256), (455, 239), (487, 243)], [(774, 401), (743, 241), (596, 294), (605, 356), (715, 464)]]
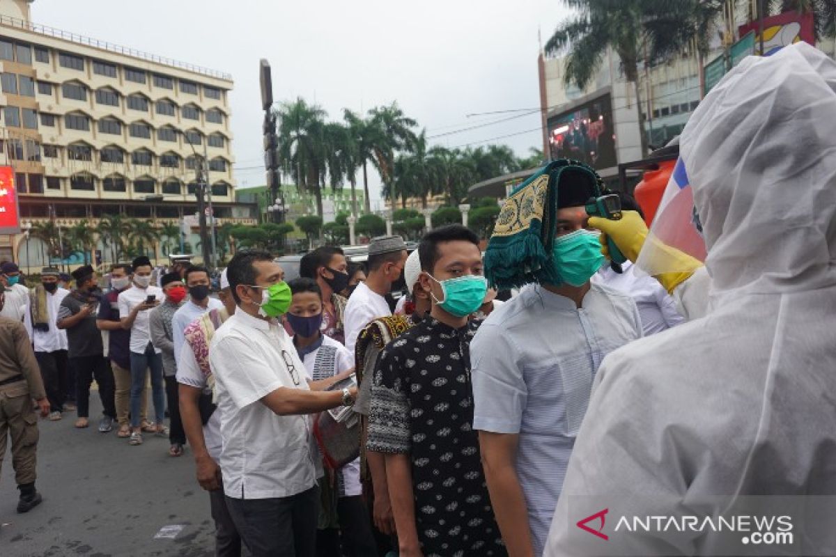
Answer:
[[(755, 506), (780, 510), (774, 496), (836, 495), (833, 114), (836, 63), (798, 43), (744, 59), (692, 115), (681, 158), (708, 255), (674, 293), (686, 309), (696, 294), (701, 313), (710, 276), (706, 315), (604, 359), (545, 555), (784, 554), (747, 546), (755, 538), (740, 532), (724, 539), (702, 519), (699, 531), (668, 523), (664, 533), (655, 520), (630, 531), (620, 519), (720, 514), (747, 496), (773, 496)], [(633, 232), (601, 228), (631, 252)], [(836, 554), (832, 506), (782, 509), (790, 554)]]

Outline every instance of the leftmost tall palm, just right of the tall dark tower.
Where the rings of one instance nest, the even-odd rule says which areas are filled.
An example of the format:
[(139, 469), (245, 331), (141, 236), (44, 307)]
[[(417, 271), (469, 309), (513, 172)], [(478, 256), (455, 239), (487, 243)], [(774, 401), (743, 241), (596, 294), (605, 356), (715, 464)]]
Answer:
[(278, 151), (283, 170), (296, 180), (302, 193), (312, 191), (317, 214), (322, 216), (322, 183), (326, 165), (325, 124), (328, 114), (301, 97), (278, 110)]

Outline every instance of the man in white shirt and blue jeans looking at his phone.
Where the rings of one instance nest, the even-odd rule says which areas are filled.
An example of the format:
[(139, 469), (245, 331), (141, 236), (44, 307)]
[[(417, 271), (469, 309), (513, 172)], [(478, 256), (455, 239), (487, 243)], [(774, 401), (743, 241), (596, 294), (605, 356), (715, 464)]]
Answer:
[(130, 444), (142, 444), (140, 405), (146, 373), (151, 374), (151, 398), (154, 401), (155, 435), (166, 437), (163, 423), (166, 412), (166, 388), (162, 382), (162, 352), (150, 338), (148, 310), (158, 306), (165, 297), (161, 288), (151, 286), (150, 260), (145, 256), (133, 261), (133, 284), (119, 295), (119, 316), (122, 328), (130, 331)]

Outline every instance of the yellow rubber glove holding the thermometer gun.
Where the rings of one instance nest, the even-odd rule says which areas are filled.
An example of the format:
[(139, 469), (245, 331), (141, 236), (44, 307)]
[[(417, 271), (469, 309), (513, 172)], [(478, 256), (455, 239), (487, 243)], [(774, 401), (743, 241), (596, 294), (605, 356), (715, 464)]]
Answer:
[[(635, 263), (647, 239), (647, 225), (635, 210), (621, 211), (621, 215), (621, 220), (590, 216), (589, 225), (602, 232), (601, 244), (604, 247), (601, 252), (604, 256), (609, 258), (609, 249), (607, 248), (607, 237), (609, 236), (615, 242), (615, 245), (619, 246), (619, 250), (624, 254), (624, 257)], [(654, 276), (669, 293), (673, 293), (676, 286), (686, 281), (694, 274), (694, 271), (703, 266), (700, 260), (673, 247), (661, 244), (655, 247), (658, 248), (660, 257), (664, 257), (665, 261), (670, 260), (670, 264), (665, 267), (681, 269), (681, 271), (661, 273)]]

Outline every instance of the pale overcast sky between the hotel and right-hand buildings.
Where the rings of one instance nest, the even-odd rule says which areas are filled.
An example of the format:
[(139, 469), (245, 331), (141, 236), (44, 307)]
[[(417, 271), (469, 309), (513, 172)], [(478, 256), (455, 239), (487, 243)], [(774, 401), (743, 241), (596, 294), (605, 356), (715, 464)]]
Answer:
[[(37, 0), (32, 7), (35, 23), (232, 73), (239, 187), (264, 180), (260, 58), (273, 67), (276, 100), (301, 96), (334, 119), (344, 108), (397, 100), (437, 136), (431, 144), (507, 144), (528, 154), (541, 144), (538, 114), (468, 114), (537, 109), (538, 31), (545, 40), (564, 14), (559, 0)], [(451, 133), (473, 126), (480, 127)]]

